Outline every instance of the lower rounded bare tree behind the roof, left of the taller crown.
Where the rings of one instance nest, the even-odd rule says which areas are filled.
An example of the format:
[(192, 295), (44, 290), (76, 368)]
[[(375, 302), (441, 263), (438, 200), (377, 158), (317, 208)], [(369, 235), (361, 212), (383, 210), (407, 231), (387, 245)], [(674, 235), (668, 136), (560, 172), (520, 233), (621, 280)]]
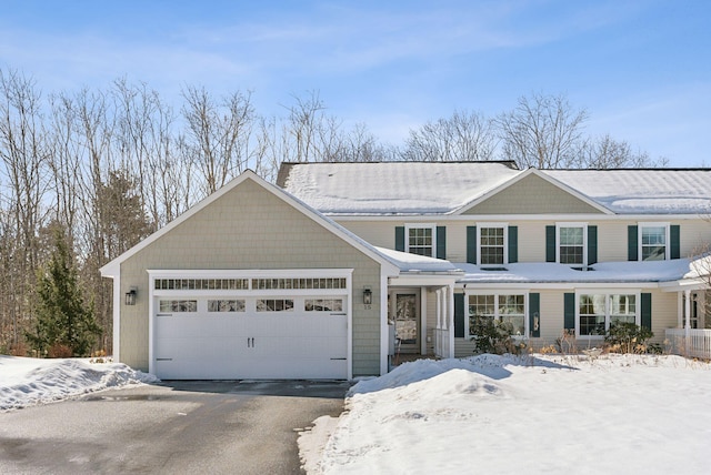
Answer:
[(493, 160), (497, 148), (491, 120), (478, 112), (454, 113), (410, 130), (403, 160), (424, 162)]

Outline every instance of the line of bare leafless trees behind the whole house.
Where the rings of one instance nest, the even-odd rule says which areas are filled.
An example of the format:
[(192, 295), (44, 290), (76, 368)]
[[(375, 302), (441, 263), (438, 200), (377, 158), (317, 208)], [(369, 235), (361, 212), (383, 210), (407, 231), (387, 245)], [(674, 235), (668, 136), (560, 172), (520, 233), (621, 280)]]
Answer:
[(274, 181), (284, 161), (665, 163), (609, 135), (587, 135), (588, 119), (562, 94), (533, 93), (495, 117), (454, 111), (389, 144), (367, 124), (330, 115), (313, 91), (266, 115), (250, 91), (218, 97), (186, 85), (174, 105), (142, 82), (42, 93), (33, 78), (0, 69), (0, 353), (40, 350), (41, 290), (67, 250), (60, 261), (67, 275), (76, 271), (78, 299), (96, 319), (89, 346), (111, 352), (111, 283), (99, 269), (247, 169)]

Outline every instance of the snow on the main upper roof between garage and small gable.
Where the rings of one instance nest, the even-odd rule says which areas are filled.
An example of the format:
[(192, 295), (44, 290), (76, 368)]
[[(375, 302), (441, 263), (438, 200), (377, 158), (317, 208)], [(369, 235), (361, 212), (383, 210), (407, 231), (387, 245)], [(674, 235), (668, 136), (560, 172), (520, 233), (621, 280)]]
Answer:
[(521, 173), (510, 162), (287, 163), (284, 190), (324, 214), (442, 214)]

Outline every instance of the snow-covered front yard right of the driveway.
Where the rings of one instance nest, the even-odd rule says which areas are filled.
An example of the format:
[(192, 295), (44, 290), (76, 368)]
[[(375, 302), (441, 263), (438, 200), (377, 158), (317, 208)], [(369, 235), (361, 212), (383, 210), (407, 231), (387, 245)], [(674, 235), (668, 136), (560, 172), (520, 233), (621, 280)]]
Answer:
[(299, 438), (310, 474), (708, 474), (711, 366), (483, 355), (359, 382)]

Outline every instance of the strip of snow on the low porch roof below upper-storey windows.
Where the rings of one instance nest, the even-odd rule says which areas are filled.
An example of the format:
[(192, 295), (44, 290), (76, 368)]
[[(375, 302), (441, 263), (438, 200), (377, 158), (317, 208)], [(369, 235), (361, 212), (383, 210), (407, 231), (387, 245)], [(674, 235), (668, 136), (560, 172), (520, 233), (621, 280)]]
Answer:
[(483, 270), (473, 264), (457, 264), (464, 271), (459, 283), (623, 283), (668, 282), (689, 273), (688, 259), (643, 262), (600, 262), (591, 270), (577, 271), (557, 263), (507, 264), (505, 271)]

